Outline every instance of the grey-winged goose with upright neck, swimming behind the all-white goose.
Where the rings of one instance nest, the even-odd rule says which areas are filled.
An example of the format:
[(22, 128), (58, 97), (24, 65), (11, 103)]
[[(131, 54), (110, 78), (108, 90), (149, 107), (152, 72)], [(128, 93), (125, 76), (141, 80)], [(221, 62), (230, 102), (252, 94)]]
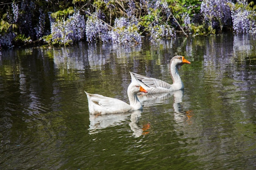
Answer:
[(170, 73), (173, 79), (173, 84), (168, 84), (162, 80), (146, 77), (137, 73), (130, 72), (132, 82), (137, 82), (142, 86), (148, 93), (166, 93), (171, 91), (177, 91), (184, 88), (178, 69), (184, 64), (191, 64), (181, 55), (176, 55), (171, 59), (170, 62)]

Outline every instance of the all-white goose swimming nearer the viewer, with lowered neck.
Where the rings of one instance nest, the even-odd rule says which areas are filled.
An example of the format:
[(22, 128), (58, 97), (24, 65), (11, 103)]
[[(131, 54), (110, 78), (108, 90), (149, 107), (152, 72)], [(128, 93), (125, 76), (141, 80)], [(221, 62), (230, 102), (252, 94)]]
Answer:
[(141, 110), (142, 105), (139, 102), (137, 93), (147, 91), (142, 88), (138, 83), (132, 82), (127, 89), (130, 105), (115, 98), (105, 97), (103, 95), (86, 93), (88, 98), (89, 112), (91, 114), (111, 114), (111, 113), (124, 113), (134, 110)]

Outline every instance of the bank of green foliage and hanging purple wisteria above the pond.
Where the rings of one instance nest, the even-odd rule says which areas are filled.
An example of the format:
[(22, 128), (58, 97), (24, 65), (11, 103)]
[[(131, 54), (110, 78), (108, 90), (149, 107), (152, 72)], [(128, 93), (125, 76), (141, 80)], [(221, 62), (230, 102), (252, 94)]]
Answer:
[[(0, 2), (0, 49), (25, 44), (141, 43), (234, 31), (256, 35), (253, 1), (5, 0)], [(103, 31), (103, 32), (102, 32)]]

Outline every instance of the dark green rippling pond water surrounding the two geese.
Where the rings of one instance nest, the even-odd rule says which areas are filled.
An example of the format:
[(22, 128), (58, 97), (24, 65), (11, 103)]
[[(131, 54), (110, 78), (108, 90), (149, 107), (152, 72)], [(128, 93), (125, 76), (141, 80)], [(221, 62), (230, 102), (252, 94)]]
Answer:
[[(177, 37), (0, 51), (0, 169), (256, 169), (256, 38)], [(139, 96), (143, 111), (90, 115), (84, 91), (128, 102), (129, 71), (183, 91)]]

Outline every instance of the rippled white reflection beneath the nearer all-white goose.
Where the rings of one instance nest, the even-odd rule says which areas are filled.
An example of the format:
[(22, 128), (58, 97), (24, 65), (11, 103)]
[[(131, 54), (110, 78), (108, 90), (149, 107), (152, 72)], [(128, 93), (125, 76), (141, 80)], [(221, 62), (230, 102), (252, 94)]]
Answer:
[(90, 128), (89, 134), (95, 134), (104, 131), (103, 129), (119, 126), (125, 124), (130, 116), (130, 129), (132, 130), (133, 137), (140, 137), (141, 135), (148, 134), (150, 129), (150, 124), (140, 125), (139, 118), (141, 117), (142, 110), (135, 110), (127, 113), (115, 113), (106, 115), (93, 115), (90, 114)]

